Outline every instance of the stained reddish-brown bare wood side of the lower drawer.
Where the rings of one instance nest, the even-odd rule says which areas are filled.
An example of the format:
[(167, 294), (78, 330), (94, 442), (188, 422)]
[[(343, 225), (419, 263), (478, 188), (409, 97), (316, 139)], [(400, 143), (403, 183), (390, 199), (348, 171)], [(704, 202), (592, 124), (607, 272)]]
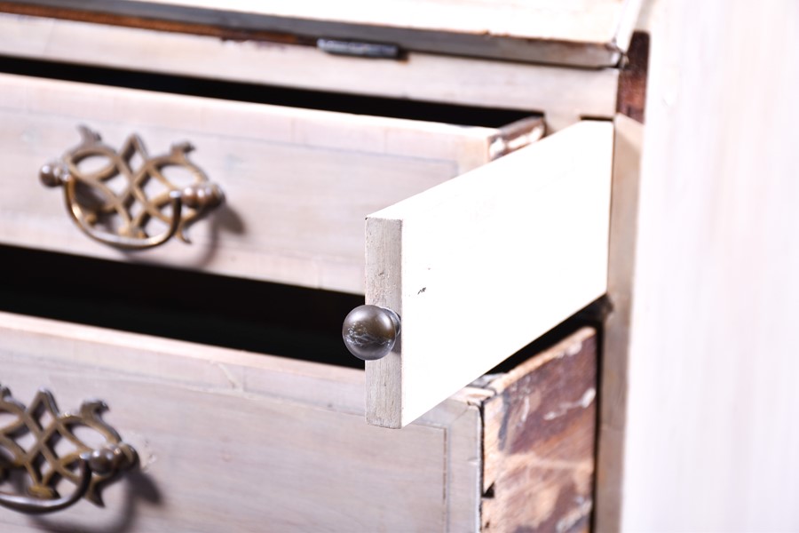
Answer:
[(491, 381), (483, 410), (482, 531), (589, 531), (597, 334), (582, 329)]

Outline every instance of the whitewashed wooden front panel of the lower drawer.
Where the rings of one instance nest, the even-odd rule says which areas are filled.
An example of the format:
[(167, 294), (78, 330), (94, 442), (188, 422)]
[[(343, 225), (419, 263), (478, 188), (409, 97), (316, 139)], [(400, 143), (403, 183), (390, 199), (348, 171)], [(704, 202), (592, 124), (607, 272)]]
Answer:
[(0, 383), (21, 402), (48, 387), (62, 410), (105, 400), (141, 462), (105, 508), (0, 509), (4, 531), (479, 529), (481, 422), (464, 400), (386, 431), (363, 423), (360, 370), (12, 314)]

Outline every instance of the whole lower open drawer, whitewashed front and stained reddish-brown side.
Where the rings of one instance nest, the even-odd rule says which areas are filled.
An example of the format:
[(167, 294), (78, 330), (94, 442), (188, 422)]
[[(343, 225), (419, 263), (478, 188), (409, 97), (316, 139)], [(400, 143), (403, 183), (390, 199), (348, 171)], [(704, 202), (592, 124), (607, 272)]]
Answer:
[[(65, 411), (102, 398), (103, 418), (139, 457), (103, 490), (105, 508), (3, 509), (5, 530), (588, 527), (592, 330), (390, 432), (363, 424), (360, 370), (13, 314), (0, 324), (2, 385), (17, 400), (42, 386)], [(8, 424), (0, 417), (0, 432)]]

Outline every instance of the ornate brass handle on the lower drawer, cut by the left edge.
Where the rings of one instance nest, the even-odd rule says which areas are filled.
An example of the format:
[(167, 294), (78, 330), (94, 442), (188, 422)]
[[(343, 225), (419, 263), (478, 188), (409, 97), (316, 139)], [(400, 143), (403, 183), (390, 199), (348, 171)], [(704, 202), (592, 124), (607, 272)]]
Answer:
[[(100, 417), (107, 410), (105, 402), (83, 402), (79, 413), (61, 413), (50, 391), (40, 389), (34, 401), (25, 407), (12, 398), (11, 391), (0, 386), (0, 413), (12, 415), (12, 421), (0, 427), (0, 480), (11, 469), (28, 474), (30, 496), (0, 492), (0, 505), (20, 513), (52, 513), (86, 498), (102, 505), (99, 488), (124, 469), (138, 462), (136, 450), (122, 442), (115, 429)], [(106, 439), (92, 449), (75, 435), (75, 427), (88, 427)], [(30, 434), (32, 444), (20, 444)], [(56, 446), (65, 441), (67, 453)], [(61, 447), (59, 446), (59, 449)], [(46, 468), (45, 468), (46, 466)], [(67, 496), (59, 496), (55, 485), (59, 480), (75, 485)]]

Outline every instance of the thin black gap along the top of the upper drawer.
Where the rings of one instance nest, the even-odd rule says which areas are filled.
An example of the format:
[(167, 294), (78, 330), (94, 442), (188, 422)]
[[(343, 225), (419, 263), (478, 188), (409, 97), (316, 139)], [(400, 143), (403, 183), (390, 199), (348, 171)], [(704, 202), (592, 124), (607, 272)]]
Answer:
[(0, 72), (145, 91), (464, 126), (499, 128), (535, 115), (529, 110), (471, 107), (340, 92), (288, 89), (271, 85), (243, 84), (50, 61), (21, 60), (3, 56), (0, 56)]

